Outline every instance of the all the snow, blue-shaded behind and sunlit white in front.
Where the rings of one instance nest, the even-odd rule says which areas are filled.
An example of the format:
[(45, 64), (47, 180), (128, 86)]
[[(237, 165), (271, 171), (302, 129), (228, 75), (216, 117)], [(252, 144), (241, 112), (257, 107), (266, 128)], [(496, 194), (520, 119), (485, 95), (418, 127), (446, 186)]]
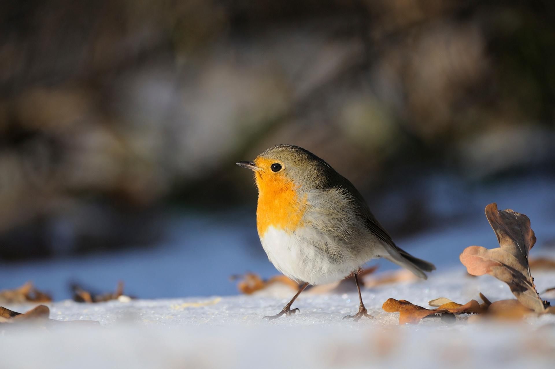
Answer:
[[(259, 246), (254, 226), (239, 227), (229, 219), (179, 218), (165, 244), (155, 250), (1, 265), (2, 288), (33, 280), (41, 290), (54, 293), (57, 301), (48, 304), (51, 318), (94, 320), (100, 326), (5, 330), (0, 335), (0, 369), (552, 367), (555, 315), (518, 323), (468, 322), (468, 315), (448, 323), (430, 317), (418, 325), (399, 326), (398, 313), (381, 309), (388, 298), (423, 307), (438, 297), (480, 301), (480, 292), (491, 301), (514, 298), (507, 285), (491, 276), (468, 276), (458, 255), (470, 245), (497, 246), (483, 215), (483, 207), (497, 201), (499, 208), (531, 218), (538, 238), (532, 257), (555, 257), (549, 246), (555, 239), (555, 216), (552, 200), (546, 202), (552, 198), (552, 186), (535, 183), (502, 191), (481, 188), (478, 200), (451, 205), (465, 207), (472, 217), (400, 240), (399, 246), (436, 263), (437, 271), (427, 281), (365, 288), (362, 297), (374, 320), (342, 320), (357, 310), (354, 283), (326, 293), (307, 290), (293, 306), (300, 313), (263, 320), (278, 313), (294, 291), (274, 286), (255, 295), (236, 295), (230, 275), (253, 271), (270, 277), (276, 271)], [(438, 208), (448, 212), (444, 200), (452, 197), (444, 195)], [(254, 225), (254, 214), (249, 214), (233, 217)], [(379, 272), (396, 269), (386, 261), (378, 263)], [(538, 291), (555, 287), (555, 271), (533, 275)], [(102, 292), (123, 280), (124, 291), (142, 299), (96, 304), (63, 300), (69, 297), (69, 280), (94, 283)], [(179, 296), (196, 297), (159, 298)], [(554, 297), (549, 297), (552, 305)], [(24, 312), (34, 305), (6, 307)]]

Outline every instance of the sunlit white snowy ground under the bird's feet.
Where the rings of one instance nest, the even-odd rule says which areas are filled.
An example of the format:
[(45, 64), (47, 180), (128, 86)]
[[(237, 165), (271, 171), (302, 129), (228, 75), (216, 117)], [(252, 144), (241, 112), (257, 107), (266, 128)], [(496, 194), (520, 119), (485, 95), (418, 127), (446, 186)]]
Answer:
[[(536, 273), (538, 290), (553, 287), (555, 272)], [(274, 291), (283, 294), (285, 291)], [(0, 337), (0, 368), (366, 368), (366, 367), (552, 367), (555, 316), (523, 323), (455, 323), (438, 317), (398, 326), (398, 313), (386, 313), (387, 298), (427, 307), (437, 297), (457, 302), (512, 298), (508, 287), (490, 276), (467, 277), (462, 268), (428, 281), (366, 289), (363, 298), (375, 320), (352, 322), (357, 296), (307, 291), (301, 312), (268, 322), (286, 298), (203, 297), (174, 300), (56, 302), (57, 320), (97, 320), (98, 328), (59, 328), (53, 332), (9, 330)], [(555, 302), (555, 301), (553, 301)], [(26, 311), (32, 306), (9, 306)]]

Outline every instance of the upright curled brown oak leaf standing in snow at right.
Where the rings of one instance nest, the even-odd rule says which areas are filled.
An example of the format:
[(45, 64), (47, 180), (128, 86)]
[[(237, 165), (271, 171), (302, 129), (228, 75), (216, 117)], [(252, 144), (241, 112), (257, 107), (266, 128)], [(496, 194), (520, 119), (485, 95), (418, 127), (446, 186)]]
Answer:
[(486, 217), (501, 247), (469, 246), (460, 255), (461, 263), (473, 276), (489, 274), (507, 283), (522, 305), (544, 312), (548, 303), (539, 297), (528, 266), (528, 252), (536, 243), (530, 220), (510, 209), (499, 211), (496, 203), (486, 206)]

